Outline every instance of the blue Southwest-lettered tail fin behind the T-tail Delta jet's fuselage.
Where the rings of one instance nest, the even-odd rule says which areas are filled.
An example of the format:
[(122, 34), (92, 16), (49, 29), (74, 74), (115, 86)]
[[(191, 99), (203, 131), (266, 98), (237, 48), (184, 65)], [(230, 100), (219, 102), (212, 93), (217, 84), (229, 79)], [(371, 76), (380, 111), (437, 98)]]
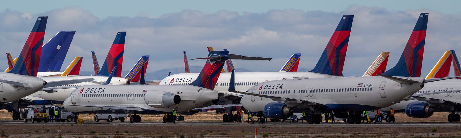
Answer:
[[(130, 72), (125, 76), (125, 79), (130, 82), (138, 82), (141, 78), (141, 70), (146, 72), (147, 65), (149, 62), (149, 56), (142, 56), (139, 58), (138, 62), (131, 68)], [(141, 68), (143, 66), (143, 68)], [(144, 74), (144, 73), (143, 73)]]

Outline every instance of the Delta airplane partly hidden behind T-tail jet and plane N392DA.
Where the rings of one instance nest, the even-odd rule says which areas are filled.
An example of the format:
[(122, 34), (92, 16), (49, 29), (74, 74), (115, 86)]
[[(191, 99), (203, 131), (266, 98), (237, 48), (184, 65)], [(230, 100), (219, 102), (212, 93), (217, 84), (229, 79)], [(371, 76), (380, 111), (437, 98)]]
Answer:
[[(352, 21), (354, 15), (344, 15), (341, 17), (337, 28), (331, 35), (331, 39), (325, 47), (321, 57), (315, 68), (307, 72), (242, 72), (236, 73), (236, 90), (246, 91), (251, 86), (265, 81), (291, 79), (291, 78), (330, 78), (330, 77), (343, 77), (344, 58), (346, 56), (347, 46), (349, 44), (349, 35), (352, 28)], [(291, 61), (291, 58), (289, 59)], [(299, 58), (297, 58), (299, 61)], [(289, 61), (289, 63), (290, 63)], [(296, 64), (289, 64), (296, 65)], [(284, 69), (285, 67), (283, 67)], [(175, 74), (169, 75), (162, 81), (160, 85), (188, 85), (198, 74)], [(220, 104), (239, 104), (242, 94), (228, 92), (229, 80), (231, 73), (222, 73), (217, 82), (214, 90), (222, 92), (219, 93)], [(215, 103), (216, 104), (216, 103)], [(195, 111), (198, 112), (198, 111)], [(231, 114), (228, 109), (227, 113)], [(233, 116), (233, 115), (223, 115)]]

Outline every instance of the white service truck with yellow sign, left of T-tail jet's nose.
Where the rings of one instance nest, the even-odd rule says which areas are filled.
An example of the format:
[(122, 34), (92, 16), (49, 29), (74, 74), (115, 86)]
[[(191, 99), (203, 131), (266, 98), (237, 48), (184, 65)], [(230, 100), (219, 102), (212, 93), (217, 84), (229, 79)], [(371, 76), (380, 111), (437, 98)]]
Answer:
[(40, 123), (50, 121), (50, 110), (45, 106), (29, 105), (28, 109), (21, 109), (21, 119), (24, 119), (24, 123), (37, 121)]

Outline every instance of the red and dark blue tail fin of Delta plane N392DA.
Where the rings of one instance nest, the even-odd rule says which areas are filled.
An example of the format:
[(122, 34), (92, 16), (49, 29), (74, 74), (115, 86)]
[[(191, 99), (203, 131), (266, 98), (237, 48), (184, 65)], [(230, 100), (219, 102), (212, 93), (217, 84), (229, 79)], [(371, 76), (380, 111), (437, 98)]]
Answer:
[(414, 26), (413, 32), (408, 39), (407, 46), (402, 52), (400, 60), (396, 66), (383, 75), (391, 76), (421, 76), (421, 64), (423, 62), (424, 43), (426, 40), (427, 18), (429, 13), (421, 13), (418, 22)]

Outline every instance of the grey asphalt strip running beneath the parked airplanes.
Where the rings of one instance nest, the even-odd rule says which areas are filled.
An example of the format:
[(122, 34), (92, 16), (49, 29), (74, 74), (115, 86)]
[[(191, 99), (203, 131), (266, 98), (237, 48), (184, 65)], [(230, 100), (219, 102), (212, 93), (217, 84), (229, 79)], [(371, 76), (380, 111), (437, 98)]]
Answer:
[[(22, 120), (18, 121), (10, 121), (10, 120), (0, 120), (0, 125), (1, 124), (9, 124), (9, 125), (64, 125), (64, 124), (75, 124), (75, 122), (40, 122), (40, 123), (32, 123), (31, 121), (28, 121), (27, 123), (24, 123)], [(90, 121), (86, 120), (84, 121), (84, 126), (111, 126), (111, 125), (117, 125), (117, 126), (203, 126), (203, 127), (210, 127), (210, 126), (217, 126), (217, 127), (226, 127), (226, 126), (238, 126), (238, 127), (246, 127), (246, 126), (252, 126), (252, 127), (263, 127), (263, 126), (273, 126), (273, 127), (459, 127), (461, 125), (460, 122), (396, 122), (396, 123), (388, 123), (388, 122), (383, 122), (383, 123), (368, 123), (368, 124), (349, 124), (345, 123), (343, 121), (336, 122), (336, 123), (320, 123), (320, 124), (308, 124), (306, 122), (301, 123), (289, 123), (289, 122), (268, 122), (265, 124), (247, 124), (247, 123), (234, 123), (234, 122), (214, 122), (214, 121), (207, 121), (207, 122), (193, 122), (193, 121), (179, 121), (176, 122), (176, 124), (173, 124), (171, 122), (168, 123), (162, 123), (160, 121), (141, 121), (138, 123), (130, 123), (129, 121), (112, 121), (112, 122), (107, 122), (107, 121)]]

